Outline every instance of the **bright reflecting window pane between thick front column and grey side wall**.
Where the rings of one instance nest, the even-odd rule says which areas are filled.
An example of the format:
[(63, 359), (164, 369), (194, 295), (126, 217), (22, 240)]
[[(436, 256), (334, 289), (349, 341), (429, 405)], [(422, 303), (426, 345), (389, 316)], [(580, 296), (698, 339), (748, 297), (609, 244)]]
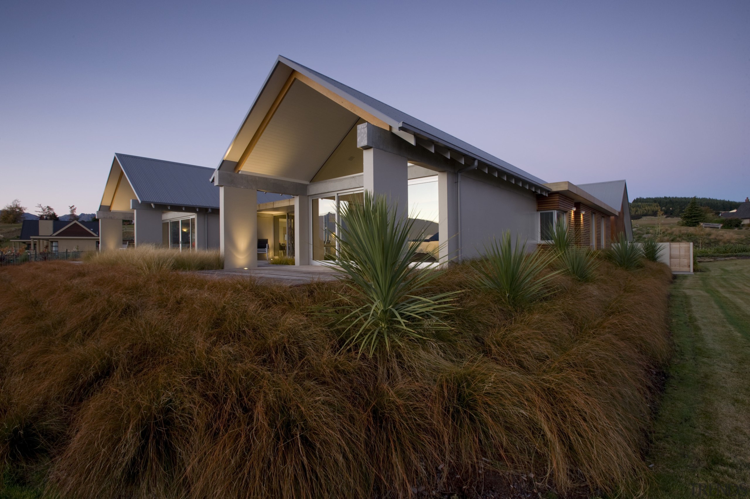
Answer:
[(409, 239), (419, 245), (416, 258), (437, 261), (440, 247), (440, 203), (438, 202), (437, 176), (409, 182), (409, 218), (413, 222)]

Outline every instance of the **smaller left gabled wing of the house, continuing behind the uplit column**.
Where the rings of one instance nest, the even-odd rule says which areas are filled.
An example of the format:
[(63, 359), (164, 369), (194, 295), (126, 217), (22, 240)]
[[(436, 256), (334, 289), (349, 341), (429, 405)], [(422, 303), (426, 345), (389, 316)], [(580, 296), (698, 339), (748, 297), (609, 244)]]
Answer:
[[(134, 221), (135, 245), (153, 244), (189, 251), (220, 246), (220, 189), (208, 179), (212, 168), (115, 154), (97, 217), (102, 249), (121, 248), (122, 221)], [(260, 194), (259, 237), (286, 237), (289, 200)], [(290, 198), (287, 196), (286, 198)], [(283, 221), (281, 220), (283, 218)], [(282, 223), (283, 222), (283, 223)], [(248, 239), (249, 241), (249, 239)]]

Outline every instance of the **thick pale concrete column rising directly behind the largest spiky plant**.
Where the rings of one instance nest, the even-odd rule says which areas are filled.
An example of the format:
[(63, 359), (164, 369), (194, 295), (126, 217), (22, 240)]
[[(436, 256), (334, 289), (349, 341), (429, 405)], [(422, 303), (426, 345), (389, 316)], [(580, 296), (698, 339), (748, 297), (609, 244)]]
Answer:
[(398, 215), (409, 213), (409, 170), (407, 158), (381, 149), (364, 149), (365, 190), (385, 194), (398, 204)]

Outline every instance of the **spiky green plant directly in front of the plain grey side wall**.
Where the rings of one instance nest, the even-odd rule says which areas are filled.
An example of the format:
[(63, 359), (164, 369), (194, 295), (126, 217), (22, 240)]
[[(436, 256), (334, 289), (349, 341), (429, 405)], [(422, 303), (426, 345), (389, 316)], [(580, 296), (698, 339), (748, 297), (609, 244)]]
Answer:
[(493, 239), (484, 246), (484, 265), (478, 266), (479, 280), (484, 287), (495, 290), (508, 308), (521, 308), (550, 293), (550, 279), (559, 273), (543, 275), (544, 269), (555, 259), (550, 252), (526, 251), (526, 242), (516, 239), (506, 230), (499, 241)]

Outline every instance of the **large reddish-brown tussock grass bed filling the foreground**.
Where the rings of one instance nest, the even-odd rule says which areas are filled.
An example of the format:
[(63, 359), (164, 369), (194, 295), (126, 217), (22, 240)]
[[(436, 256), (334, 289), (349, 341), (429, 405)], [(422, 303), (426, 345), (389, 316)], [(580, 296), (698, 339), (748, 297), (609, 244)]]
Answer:
[(472, 265), (434, 281), (467, 290), (450, 332), (373, 357), (311, 312), (340, 283), (0, 269), (0, 466), (49, 459), (80, 499), (410, 497), (492, 470), (639, 493), (668, 269), (557, 275), (511, 314)]

